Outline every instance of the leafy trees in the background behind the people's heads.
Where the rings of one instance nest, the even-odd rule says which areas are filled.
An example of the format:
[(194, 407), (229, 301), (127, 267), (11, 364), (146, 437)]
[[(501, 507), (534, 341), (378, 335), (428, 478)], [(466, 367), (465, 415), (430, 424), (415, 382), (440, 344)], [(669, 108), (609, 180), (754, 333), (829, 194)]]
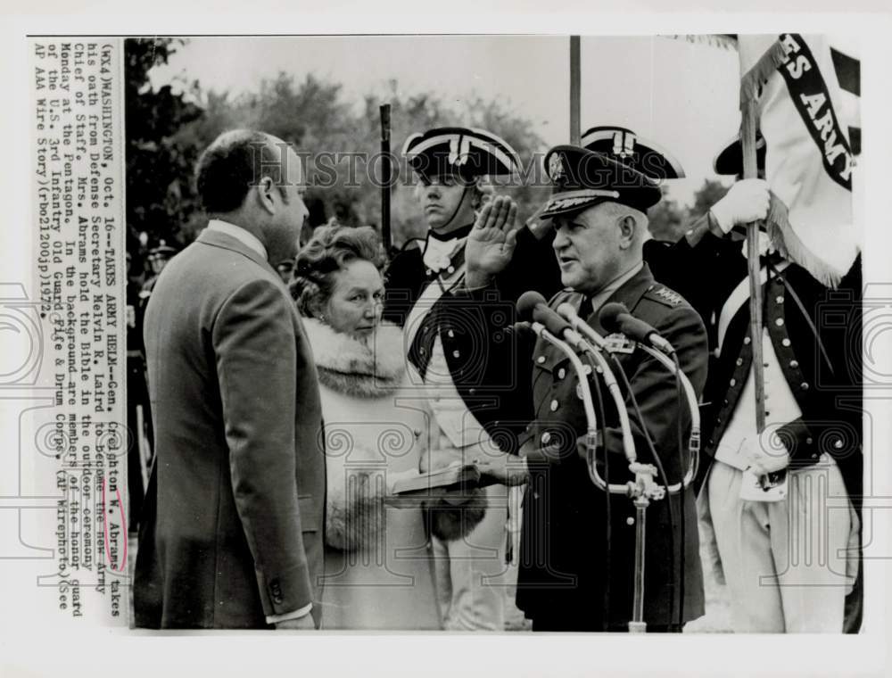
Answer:
[[(128, 226), (133, 236), (148, 234), (150, 245), (162, 239), (188, 244), (207, 224), (194, 191), (194, 166), (202, 150), (231, 128), (262, 129), (310, 154), (311, 187), (306, 197), (310, 226), (335, 217), (351, 226), (380, 228), (380, 183), (374, 177), (380, 178), (381, 172), (381, 103), (391, 104), (391, 148), (398, 156), (393, 163), (394, 244), (425, 235), (415, 191), (417, 178), (400, 152), (410, 134), (427, 128), (478, 127), (508, 141), (520, 155), (523, 170), (508, 185), (496, 186), (496, 191), (519, 203), (520, 219), (533, 216), (549, 195), (540, 161), (545, 143), (533, 121), (515, 113), (510, 102), (480, 95), (462, 102), (447, 102), (432, 93), (408, 95), (401, 93), (395, 80), (389, 92), (350, 102), (338, 83), (312, 74), (297, 80), (284, 72), (235, 96), (202, 90), (198, 82), (187, 83), (177, 94), (169, 86), (151, 87), (149, 70), (168, 62), (184, 43), (171, 38), (126, 43)], [(653, 235), (677, 240), (689, 219), (704, 213), (725, 191), (718, 181), (706, 181), (690, 210), (669, 199), (658, 203), (649, 214)]]

